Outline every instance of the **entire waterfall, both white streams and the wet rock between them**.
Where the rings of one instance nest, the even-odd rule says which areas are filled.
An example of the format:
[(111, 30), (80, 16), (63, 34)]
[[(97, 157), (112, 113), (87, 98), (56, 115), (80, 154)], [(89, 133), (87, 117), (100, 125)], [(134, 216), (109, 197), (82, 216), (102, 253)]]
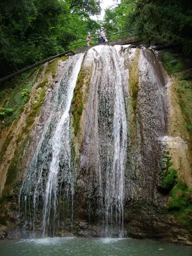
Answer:
[(99, 45), (63, 65), (20, 191), (26, 230), (53, 236), (75, 218), (102, 226), (98, 236), (122, 237), (129, 201), (155, 197), (167, 116), (162, 70), (154, 52), (129, 45)]

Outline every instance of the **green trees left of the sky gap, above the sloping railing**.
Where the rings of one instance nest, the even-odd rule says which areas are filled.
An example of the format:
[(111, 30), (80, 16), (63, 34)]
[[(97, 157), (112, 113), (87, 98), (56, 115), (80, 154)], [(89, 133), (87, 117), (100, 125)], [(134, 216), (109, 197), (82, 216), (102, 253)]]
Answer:
[(2, 0), (0, 77), (64, 52), (77, 38), (85, 39), (97, 24), (89, 15), (98, 13), (99, 0)]

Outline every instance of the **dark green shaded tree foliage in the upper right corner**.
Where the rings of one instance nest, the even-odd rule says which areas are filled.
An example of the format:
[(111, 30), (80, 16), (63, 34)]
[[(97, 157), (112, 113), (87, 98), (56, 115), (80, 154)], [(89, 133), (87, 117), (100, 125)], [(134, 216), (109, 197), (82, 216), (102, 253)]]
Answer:
[(192, 3), (183, 0), (124, 0), (132, 4), (127, 24), (136, 28), (147, 42), (180, 45), (185, 54), (192, 53)]

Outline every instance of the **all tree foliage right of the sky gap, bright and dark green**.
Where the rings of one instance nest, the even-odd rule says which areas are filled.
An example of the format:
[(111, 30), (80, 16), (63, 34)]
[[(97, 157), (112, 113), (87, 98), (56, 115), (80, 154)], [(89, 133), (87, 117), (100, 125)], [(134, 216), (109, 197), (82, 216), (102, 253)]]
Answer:
[(135, 28), (147, 43), (180, 45), (192, 54), (192, 2), (188, 0), (122, 0), (106, 10), (109, 33)]

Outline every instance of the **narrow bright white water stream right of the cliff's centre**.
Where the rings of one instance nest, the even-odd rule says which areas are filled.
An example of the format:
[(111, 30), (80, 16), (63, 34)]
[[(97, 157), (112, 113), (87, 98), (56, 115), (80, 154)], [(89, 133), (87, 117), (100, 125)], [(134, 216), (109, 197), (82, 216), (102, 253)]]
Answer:
[[(114, 101), (114, 117), (113, 117), (113, 138), (114, 138), (114, 155), (112, 172), (108, 169), (106, 175), (107, 186), (105, 196), (106, 226), (113, 223), (113, 215), (115, 214), (116, 223), (120, 228), (120, 236), (123, 236), (124, 228), (124, 171), (127, 156), (127, 120), (125, 113), (124, 77), (122, 76), (121, 63), (122, 56), (117, 54), (120, 49), (116, 47), (113, 51), (114, 68), (116, 72), (115, 81), (115, 101)], [(124, 72), (123, 72), (124, 74)], [(113, 77), (112, 77), (113, 79)], [(110, 177), (111, 176), (111, 177)], [(115, 207), (115, 212), (113, 207)]]

